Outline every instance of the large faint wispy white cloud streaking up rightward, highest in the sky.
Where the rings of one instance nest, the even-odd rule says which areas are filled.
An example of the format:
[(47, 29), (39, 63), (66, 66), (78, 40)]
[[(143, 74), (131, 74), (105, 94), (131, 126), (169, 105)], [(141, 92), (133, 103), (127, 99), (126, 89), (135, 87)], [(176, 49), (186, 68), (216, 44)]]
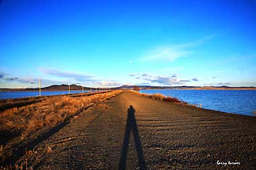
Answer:
[(162, 46), (160, 48), (155, 48), (146, 52), (146, 54), (142, 57), (143, 60), (168, 60), (173, 61), (178, 58), (187, 57), (194, 52), (189, 48), (193, 48), (195, 46), (200, 46), (201, 44), (205, 44), (205, 42), (211, 40), (216, 35), (206, 36), (204, 38), (200, 38), (198, 40), (194, 40), (192, 42), (187, 42), (184, 44), (177, 44), (172, 46)]

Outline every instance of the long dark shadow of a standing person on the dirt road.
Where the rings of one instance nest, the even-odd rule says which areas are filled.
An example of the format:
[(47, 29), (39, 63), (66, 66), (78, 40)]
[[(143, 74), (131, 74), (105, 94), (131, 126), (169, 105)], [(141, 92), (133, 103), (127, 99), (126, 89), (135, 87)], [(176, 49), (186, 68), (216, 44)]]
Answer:
[(130, 105), (129, 109), (127, 110), (127, 122), (126, 122), (125, 136), (123, 138), (122, 155), (119, 161), (119, 169), (125, 169), (126, 167), (127, 151), (128, 151), (129, 138), (130, 138), (131, 131), (133, 131), (133, 138), (135, 142), (135, 148), (137, 151), (137, 159), (139, 160), (139, 169), (146, 169), (146, 162), (143, 157), (143, 150), (142, 150), (141, 141), (139, 138), (139, 130), (137, 128), (137, 123), (135, 119), (135, 110), (132, 105)]

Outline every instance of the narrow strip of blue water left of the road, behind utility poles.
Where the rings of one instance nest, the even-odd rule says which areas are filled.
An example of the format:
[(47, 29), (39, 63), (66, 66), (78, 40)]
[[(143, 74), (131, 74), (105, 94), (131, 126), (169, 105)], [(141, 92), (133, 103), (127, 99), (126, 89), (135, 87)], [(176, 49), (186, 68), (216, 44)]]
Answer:
[[(84, 90), (87, 93), (88, 90)], [(68, 94), (69, 91), (41, 91), (41, 95), (63, 95)], [(82, 93), (82, 91), (70, 91), (70, 93)], [(38, 91), (3, 91), (0, 92), (0, 99), (11, 99), (20, 97), (34, 97), (38, 96)]]

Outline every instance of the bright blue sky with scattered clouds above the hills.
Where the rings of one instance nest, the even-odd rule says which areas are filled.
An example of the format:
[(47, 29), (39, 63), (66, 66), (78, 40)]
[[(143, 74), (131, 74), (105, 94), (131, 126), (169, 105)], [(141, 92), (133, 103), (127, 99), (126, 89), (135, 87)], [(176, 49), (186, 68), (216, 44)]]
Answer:
[(255, 1), (0, 1), (0, 87), (256, 86)]

